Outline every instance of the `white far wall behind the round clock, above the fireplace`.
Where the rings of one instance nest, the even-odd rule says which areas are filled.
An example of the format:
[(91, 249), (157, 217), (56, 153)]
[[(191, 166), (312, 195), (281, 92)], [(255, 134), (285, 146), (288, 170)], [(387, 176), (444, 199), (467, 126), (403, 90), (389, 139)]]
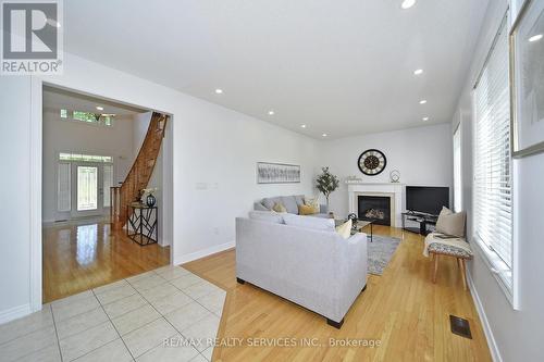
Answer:
[[(385, 170), (376, 176), (366, 176), (357, 166), (359, 155), (371, 148), (387, 158)], [(366, 183), (390, 183), (390, 172), (398, 170), (403, 184), (453, 186), (450, 124), (327, 140), (321, 149), (320, 165), (330, 166), (341, 178), (339, 188), (331, 195), (330, 209), (336, 215), (346, 216), (348, 212), (346, 176), (356, 175)]]

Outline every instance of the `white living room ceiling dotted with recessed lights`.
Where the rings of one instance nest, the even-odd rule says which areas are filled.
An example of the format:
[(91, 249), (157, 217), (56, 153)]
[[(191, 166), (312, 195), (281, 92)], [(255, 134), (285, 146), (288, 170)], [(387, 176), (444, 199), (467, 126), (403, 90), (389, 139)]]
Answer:
[(449, 122), (487, 2), (79, 0), (63, 28), (69, 52), (337, 138)]

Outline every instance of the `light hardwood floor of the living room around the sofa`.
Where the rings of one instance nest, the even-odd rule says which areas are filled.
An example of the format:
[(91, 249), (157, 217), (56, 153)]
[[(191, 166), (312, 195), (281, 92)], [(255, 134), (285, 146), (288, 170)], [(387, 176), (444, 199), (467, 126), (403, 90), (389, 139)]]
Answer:
[[(491, 361), (470, 291), (458, 266), (444, 258), (436, 284), (433, 263), (422, 255), (423, 238), (386, 226), (374, 234), (403, 239), (382, 276), (369, 275), (367, 290), (342, 329), (325, 319), (248, 283), (236, 283), (234, 250), (183, 265), (227, 290), (219, 338), (245, 338), (215, 347), (214, 361)], [(452, 260), (446, 260), (452, 259)], [(302, 261), (301, 261), (302, 262)], [(449, 314), (470, 322), (472, 339), (452, 334)], [(248, 346), (248, 338), (319, 338), (322, 347)], [(332, 347), (329, 338), (375, 339), (379, 347)], [(254, 342), (255, 345), (255, 342)]]

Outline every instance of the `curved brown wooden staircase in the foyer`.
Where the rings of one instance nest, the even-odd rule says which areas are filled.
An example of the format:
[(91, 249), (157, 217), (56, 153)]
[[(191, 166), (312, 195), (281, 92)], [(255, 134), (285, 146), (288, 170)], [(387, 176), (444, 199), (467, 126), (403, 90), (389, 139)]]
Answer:
[(166, 121), (168, 115), (153, 112), (146, 138), (128, 175), (121, 186), (114, 186), (110, 189), (110, 219), (113, 228), (122, 228), (126, 224), (128, 220), (127, 207), (132, 202), (138, 201), (139, 191), (149, 184), (161, 149), (162, 138), (164, 138)]

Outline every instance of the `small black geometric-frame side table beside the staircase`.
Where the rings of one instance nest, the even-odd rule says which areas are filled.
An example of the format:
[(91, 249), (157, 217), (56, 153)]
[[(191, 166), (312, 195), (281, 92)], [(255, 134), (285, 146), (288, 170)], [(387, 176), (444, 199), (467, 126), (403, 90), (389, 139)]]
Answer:
[[(128, 225), (126, 236), (140, 247), (157, 244), (159, 238), (159, 223), (157, 207), (148, 207), (144, 203), (132, 203), (126, 207)], [(153, 239), (154, 233), (154, 239)]]

